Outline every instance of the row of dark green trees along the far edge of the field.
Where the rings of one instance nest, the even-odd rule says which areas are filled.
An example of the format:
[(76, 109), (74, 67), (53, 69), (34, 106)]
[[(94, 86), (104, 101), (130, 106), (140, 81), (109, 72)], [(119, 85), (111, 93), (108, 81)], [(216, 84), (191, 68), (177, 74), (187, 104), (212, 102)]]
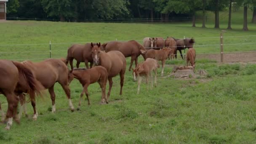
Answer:
[(170, 16), (189, 16), (192, 17), (192, 27), (195, 27), (195, 13), (202, 11), (202, 27), (205, 27), (205, 11), (213, 11), (215, 28), (219, 28), (219, 11), (229, 7), (227, 28), (232, 29), (232, 8), (241, 6), (244, 9), (243, 30), (248, 30), (248, 8), (253, 10), (252, 22), (256, 23), (256, 0), (9, 0), (7, 16), (60, 21), (131, 18), (168, 21)]

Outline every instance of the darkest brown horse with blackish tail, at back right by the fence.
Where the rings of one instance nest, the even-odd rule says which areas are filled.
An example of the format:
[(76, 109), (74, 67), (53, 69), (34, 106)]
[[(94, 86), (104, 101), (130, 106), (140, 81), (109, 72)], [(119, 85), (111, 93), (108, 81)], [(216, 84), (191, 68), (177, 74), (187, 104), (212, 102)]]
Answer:
[[(185, 48), (192, 48), (194, 43), (195, 43), (195, 40), (193, 38), (185, 38), (185, 39), (175, 39), (175, 38), (173, 38), (173, 39), (176, 41), (177, 50), (179, 51), (179, 53), (181, 54), (181, 58), (183, 59), (181, 50), (184, 50)], [(176, 55), (175, 55), (176, 59), (177, 59), (177, 50), (175, 52), (176, 53)]]

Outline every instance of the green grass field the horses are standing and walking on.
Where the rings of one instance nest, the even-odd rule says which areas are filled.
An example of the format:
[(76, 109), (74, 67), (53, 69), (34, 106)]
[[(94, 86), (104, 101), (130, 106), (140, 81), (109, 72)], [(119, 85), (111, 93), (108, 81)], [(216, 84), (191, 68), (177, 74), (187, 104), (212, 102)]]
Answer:
[[(219, 38), (199, 38), (219, 37), (221, 29), (190, 26), (190, 23), (7, 21), (0, 23), (0, 33), (4, 34), (0, 41), (1, 52), (40, 52), (0, 53), (0, 56), (1, 59), (47, 59), (49, 41), (103, 43), (116, 39), (142, 40), (148, 36), (186, 36), (195, 37), (196, 45), (219, 44)], [(207, 24), (207, 27), (213, 27), (213, 24)], [(221, 28), (226, 27), (227, 24), (221, 23)], [(228, 30), (224, 36), (256, 35), (255, 24), (249, 24), (248, 32), (240, 30), (240, 23), (235, 23), (232, 27), (234, 30)], [(15, 45), (41, 43), (46, 44)], [(227, 37), (224, 38), (224, 43), (255, 43), (255, 37)], [(12, 45), (7, 46), (9, 44)], [(65, 57), (70, 45), (53, 44), (53, 58)], [(219, 46), (195, 48), (197, 53), (219, 52)], [(255, 50), (254, 45), (224, 46), (224, 51), (252, 50)], [(130, 58), (127, 58), (128, 64)], [(172, 71), (174, 65), (184, 65), (185, 61), (179, 58), (168, 61), (168, 64), (165, 75)], [(256, 143), (256, 64), (219, 64), (207, 59), (198, 60), (196, 64), (196, 70), (205, 69), (208, 75), (178, 80), (160, 77), (158, 69), (157, 88), (147, 91), (147, 85), (142, 83), (139, 95), (136, 95), (137, 83), (133, 82), (132, 74), (127, 70), (122, 96), (119, 96), (119, 77), (113, 80), (110, 103), (106, 105), (100, 105), (99, 85), (92, 84), (88, 88), (91, 105), (88, 106), (85, 100), (81, 110), (75, 112), (69, 111), (64, 91), (57, 83), (56, 113), (51, 113), (51, 99), (48, 94), (45, 99), (38, 98), (37, 110), (40, 115), (37, 121), (32, 120), (32, 106), (27, 104), (30, 117), (22, 117), (20, 125), (14, 123), (10, 131), (5, 131), (5, 124), (0, 124), (0, 143)], [(81, 66), (84, 67), (84, 64)], [(70, 88), (76, 108), (82, 86), (74, 80)], [(0, 101), (6, 111), (5, 97), (0, 96)]]

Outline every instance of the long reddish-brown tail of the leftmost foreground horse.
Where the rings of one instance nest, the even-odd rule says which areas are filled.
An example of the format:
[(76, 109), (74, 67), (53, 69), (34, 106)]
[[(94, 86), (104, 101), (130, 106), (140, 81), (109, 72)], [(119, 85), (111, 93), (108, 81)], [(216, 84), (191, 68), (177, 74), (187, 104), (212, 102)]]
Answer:
[(28, 67), (26, 67), (24, 64), (21, 64), (18, 61), (12, 61), (12, 62), (19, 70), (19, 80), (25, 81), (24, 86), (27, 86), (28, 88), (27, 93), (29, 93), (29, 96), (31, 98), (35, 98), (35, 95), (42, 96), (42, 93), (40, 91), (43, 90), (43, 85), (41, 85), (41, 83), (36, 80), (32, 71)]

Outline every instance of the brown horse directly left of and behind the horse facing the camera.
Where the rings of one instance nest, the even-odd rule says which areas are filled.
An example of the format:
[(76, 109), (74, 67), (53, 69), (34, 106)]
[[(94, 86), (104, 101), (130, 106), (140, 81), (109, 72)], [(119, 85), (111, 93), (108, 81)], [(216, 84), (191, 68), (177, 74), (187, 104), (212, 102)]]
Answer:
[[(95, 43), (94, 43), (95, 45)], [(73, 59), (77, 61), (76, 67), (79, 68), (80, 62), (85, 62), (85, 66), (88, 69), (88, 62), (90, 62), (90, 68), (93, 66), (93, 59), (91, 58), (91, 43), (85, 45), (74, 44), (67, 50), (66, 64), (70, 64), (73, 69)]]

